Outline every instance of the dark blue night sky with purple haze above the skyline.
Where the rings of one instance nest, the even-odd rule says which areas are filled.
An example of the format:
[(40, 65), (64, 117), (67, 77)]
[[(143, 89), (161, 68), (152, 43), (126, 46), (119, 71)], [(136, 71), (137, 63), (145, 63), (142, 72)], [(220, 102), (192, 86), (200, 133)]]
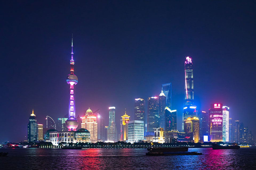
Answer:
[[(71, 33), (76, 115), (108, 107), (133, 120), (134, 99), (172, 83), (181, 130), (184, 61), (192, 57), (197, 110), (230, 107), (230, 117), (256, 133), (254, 1), (54, 1), (1, 5), (0, 142), (27, 140), (34, 109), (45, 124), (68, 113)], [(147, 104), (147, 102), (146, 102)]]

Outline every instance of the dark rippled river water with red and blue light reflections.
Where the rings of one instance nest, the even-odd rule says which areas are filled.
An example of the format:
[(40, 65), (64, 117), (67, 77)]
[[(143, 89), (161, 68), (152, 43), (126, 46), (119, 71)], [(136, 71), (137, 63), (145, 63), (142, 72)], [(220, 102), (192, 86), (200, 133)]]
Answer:
[(189, 148), (203, 155), (146, 156), (147, 149), (0, 148), (0, 169), (256, 169), (256, 147)]

